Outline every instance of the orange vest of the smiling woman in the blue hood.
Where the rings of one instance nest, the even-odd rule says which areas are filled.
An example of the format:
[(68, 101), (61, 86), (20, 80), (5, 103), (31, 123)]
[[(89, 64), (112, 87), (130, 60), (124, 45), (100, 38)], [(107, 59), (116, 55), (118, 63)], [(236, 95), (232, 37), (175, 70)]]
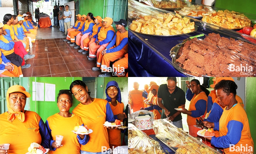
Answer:
[[(122, 114), (124, 113), (124, 103), (118, 103), (116, 106), (113, 106), (110, 102), (108, 102), (111, 110), (113, 111), (114, 116), (118, 115), (118, 114)], [(121, 122), (123, 120), (120, 120)], [(113, 144), (113, 145), (121, 145), (121, 130), (120, 129), (107, 129), (108, 130), (108, 141), (109, 144)], [(110, 147), (112, 149), (112, 147)]]

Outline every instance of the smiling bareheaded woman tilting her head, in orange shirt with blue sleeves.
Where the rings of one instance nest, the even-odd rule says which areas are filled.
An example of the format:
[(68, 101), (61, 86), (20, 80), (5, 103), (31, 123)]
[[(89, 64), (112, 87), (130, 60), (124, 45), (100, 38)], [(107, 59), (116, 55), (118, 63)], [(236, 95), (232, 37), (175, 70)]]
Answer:
[(88, 136), (87, 144), (81, 145), (81, 154), (101, 154), (109, 149), (108, 129), (118, 127), (103, 126), (105, 121), (114, 122), (114, 114), (107, 100), (90, 97), (90, 91), (81, 80), (75, 80), (70, 85), (70, 90), (80, 103), (74, 108), (73, 113), (82, 118), (84, 125), (93, 130)]

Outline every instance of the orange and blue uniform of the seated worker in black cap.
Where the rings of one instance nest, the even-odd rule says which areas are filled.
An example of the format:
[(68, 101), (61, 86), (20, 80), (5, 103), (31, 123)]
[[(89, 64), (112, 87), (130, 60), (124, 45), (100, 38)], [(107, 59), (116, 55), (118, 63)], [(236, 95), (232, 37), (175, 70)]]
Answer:
[(97, 57), (97, 67), (101, 66), (107, 69), (110, 62), (114, 62), (128, 53), (128, 31), (120, 33), (118, 30), (106, 48), (106, 54), (99, 54), (99, 57)]

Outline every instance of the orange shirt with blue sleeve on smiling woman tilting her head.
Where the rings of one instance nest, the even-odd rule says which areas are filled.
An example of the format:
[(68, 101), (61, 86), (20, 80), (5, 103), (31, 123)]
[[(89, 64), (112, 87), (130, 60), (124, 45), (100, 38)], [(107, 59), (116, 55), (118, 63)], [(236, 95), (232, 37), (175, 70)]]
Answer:
[(88, 134), (90, 140), (87, 144), (81, 145), (80, 150), (101, 152), (102, 146), (109, 149), (108, 132), (103, 124), (105, 121), (115, 121), (115, 119), (107, 100), (95, 98), (89, 105), (79, 103), (72, 112), (81, 117), (84, 125), (93, 130)]

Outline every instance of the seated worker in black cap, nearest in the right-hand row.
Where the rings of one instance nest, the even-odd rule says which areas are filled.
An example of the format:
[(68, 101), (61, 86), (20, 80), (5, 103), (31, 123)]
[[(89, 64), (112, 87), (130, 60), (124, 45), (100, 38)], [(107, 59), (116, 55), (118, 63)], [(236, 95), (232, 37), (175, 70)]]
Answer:
[[(128, 52), (128, 31), (125, 29), (127, 22), (124, 19), (120, 19), (115, 22), (116, 24), (116, 35), (108, 46), (99, 54), (97, 57), (97, 66), (93, 67), (92, 70), (97, 71), (100, 68), (106, 70), (109, 68), (110, 61), (115, 61), (120, 57), (123, 57)], [(104, 57), (104, 59), (102, 59)], [(104, 76), (110, 77), (109, 72), (105, 72)]]

